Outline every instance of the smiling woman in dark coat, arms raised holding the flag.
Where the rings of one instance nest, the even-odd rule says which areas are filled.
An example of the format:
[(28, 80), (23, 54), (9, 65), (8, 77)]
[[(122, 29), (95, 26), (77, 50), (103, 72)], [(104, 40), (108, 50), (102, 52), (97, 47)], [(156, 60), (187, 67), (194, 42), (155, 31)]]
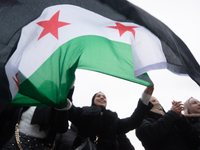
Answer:
[(153, 107), (149, 102), (153, 90), (154, 86), (146, 87), (132, 115), (124, 119), (118, 118), (116, 112), (106, 109), (107, 99), (102, 92), (94, 94), (92, 106), (89, 107), (76, 107), (68, 100), (69, 121), (78, 129), (72, 149), (79, 148), (89, 139), (97, 150), (134, 150), (125, 134), (138, 127), (145, 114)]

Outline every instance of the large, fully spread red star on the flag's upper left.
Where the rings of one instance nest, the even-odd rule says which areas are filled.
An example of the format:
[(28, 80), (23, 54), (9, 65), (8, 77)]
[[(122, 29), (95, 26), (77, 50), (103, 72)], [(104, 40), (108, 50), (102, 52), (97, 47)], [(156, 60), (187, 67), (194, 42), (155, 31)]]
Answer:
[(43, 36), (45, 36), (48, 33), (51, 33), (56, 39), (58, 39), (58, 28), (70, 24), (70, 23), (58, 21), (59, 13), (60, 13), (60, 11), (55, 13), (51, 17), (50, 20), (40, 21), (37, 23), (39, 26), (44, 28), (42, 33), (40, 34), (40, 37), (38, 38), (38, 40), (41, 39)]

